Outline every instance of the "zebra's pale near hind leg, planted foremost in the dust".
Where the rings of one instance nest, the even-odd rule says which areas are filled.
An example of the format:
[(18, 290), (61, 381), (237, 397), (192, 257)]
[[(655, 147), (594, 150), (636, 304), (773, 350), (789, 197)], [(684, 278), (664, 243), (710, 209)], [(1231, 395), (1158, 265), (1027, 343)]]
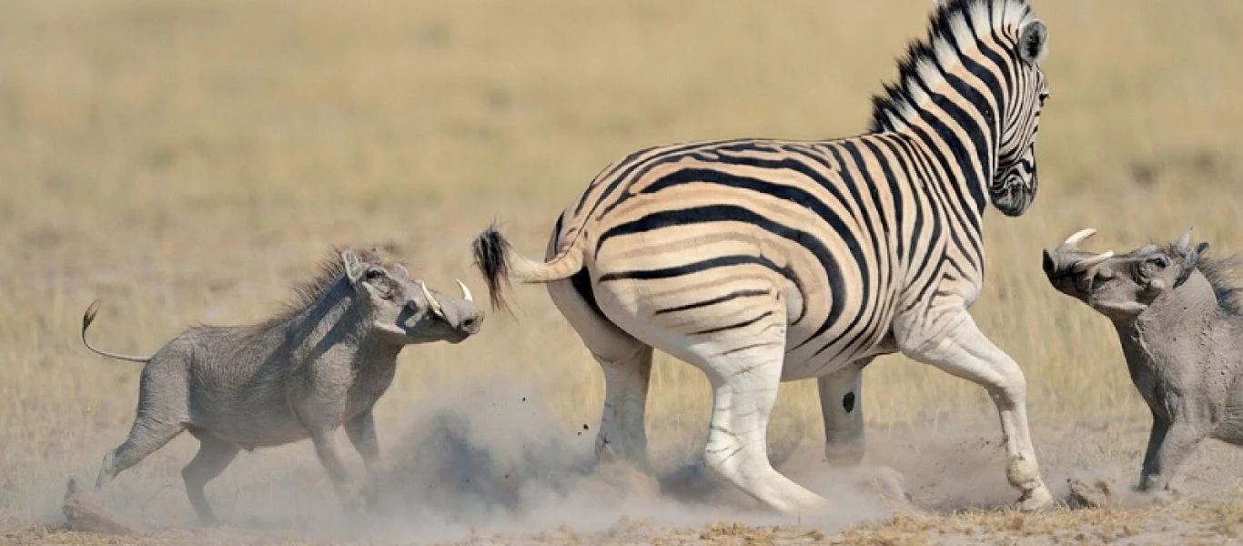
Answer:
[(776, 510), (799, 512), (820, 509), (825, 500), (781, 475), (768, 460), (768, 414), (784, 356), (781, 332), (771, 343), (726, 349), (692, 363), (712, 383), (712, 420), (704, 448), (709, 469)]

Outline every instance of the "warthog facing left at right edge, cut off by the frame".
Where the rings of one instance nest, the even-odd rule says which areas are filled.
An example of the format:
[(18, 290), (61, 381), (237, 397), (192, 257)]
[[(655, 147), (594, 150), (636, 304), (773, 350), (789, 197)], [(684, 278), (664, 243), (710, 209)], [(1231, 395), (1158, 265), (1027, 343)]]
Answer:
[(1243, 301), (1237, 259), (1204, 257), (1185, 233), (1124, 255), (1079, 249), (1085, 229), (1044, 251), (1055, 289), (1114, 322), (1131, 381), (1152, 412), (1139, 490), (1167, 490), (1204, 438), (1243, 445)]

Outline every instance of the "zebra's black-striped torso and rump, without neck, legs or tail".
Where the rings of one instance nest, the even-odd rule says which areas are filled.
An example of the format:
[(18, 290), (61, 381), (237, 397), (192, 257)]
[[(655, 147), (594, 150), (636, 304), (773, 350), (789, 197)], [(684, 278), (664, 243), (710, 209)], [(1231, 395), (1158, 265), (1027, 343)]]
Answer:
[(554, 244), (580, 238), (605, 315), (722, 353), (748, 346), (776, 301), (782, 379), (819, 377), (896, 351), (883, 343), (894, 316), (933, 286), (975, 298), (979, 234), (943, 235), (978, 223), (982, 203), (899, 182), (933, 178), (931, 163), (895, 134), (655, 148), (602, 174)]

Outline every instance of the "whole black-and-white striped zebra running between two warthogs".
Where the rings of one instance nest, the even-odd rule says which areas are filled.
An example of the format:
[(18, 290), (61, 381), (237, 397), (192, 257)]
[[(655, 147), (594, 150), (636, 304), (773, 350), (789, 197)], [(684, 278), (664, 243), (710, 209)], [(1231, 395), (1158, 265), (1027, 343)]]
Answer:
[(817, 378), (825, 455), (850, 468), (864, 454), (861, 371), (901, 352), (987, 389), (1018, 507), (1045, 507), (1027, 381), (967, 308), (987, 204), (1018, 216), (1035, 198), (1047, 42), (1025, 0), (940, 2), (861, 136), (634, 152), (564, 209), (546, 262), (493, 223), (472, 244), (492, 306), (507, 307), (511, 280), (547, 285), (604, 372), (600, 460), (646, 468), (659, 348), (711, 383), (706, 466), (777, 511), (817, 510), (827, 501), (767, 455), (778, 384)]

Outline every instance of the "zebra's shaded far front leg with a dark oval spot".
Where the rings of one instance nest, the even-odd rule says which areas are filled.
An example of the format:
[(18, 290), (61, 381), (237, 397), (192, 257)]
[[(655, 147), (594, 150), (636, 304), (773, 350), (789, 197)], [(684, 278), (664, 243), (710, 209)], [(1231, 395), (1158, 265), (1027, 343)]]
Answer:
[(824, 456), (838, 469), (858, 466), (864, 454), (863, 368), (871, 358), (817, 378), (824, 415)]

